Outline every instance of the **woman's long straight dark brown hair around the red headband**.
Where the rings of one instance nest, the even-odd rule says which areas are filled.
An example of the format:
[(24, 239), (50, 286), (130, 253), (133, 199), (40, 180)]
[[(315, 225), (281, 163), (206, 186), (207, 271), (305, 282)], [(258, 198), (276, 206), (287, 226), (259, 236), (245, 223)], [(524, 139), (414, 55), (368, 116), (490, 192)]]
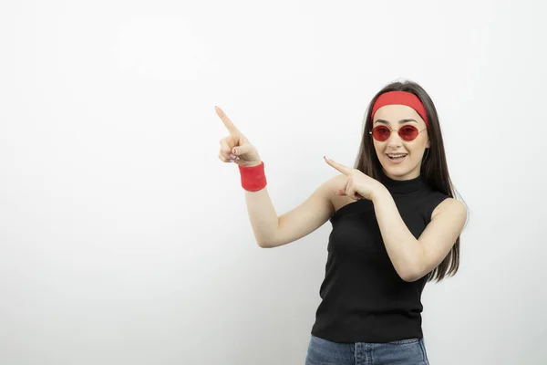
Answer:
[[(430, 147), (426, 149), (422, 158), (420, 174), (429, 188), (434, 191), (444, 193), (452, 198), (455, 198), (456, 189), (454, 188), (450, 176), (449, 167), (440, 133), (439, 116), (435, 105), (428, 93), (416, 82), (403, 81), (393, 82), (388, 84), (384, 89), (377, 92), (375, 97), (370, 100), (366, 109), (365, 126), (363, 131), (363, 139), (359, 148), (359, 153), (356, 158), (355, 169), (365, 173), (373, 179), (378, 179), (382, 165), (378, 160), (377, 153), (374, 149), (374, 143), (369, 131), (372, 130), (371, 111), (377, 98), (387, 91), (408, 91), (416, 95), (423, 103), (428, 117), (428, 136)], [(449, 255), (437, 266), (428, 273), (428, 281), (437, 279), (437, 282), (445, 276), (454, 276), (459, 269), (459, 237), (456, 243), (452, 246)]]

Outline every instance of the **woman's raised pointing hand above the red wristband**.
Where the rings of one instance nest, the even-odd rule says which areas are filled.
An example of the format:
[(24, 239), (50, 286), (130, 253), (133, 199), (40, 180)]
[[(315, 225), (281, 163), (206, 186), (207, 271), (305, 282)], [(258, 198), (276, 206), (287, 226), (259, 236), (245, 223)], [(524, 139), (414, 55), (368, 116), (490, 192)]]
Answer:
[(257, 166), (262, 163), (258, 151), (249, 143), (249, 140), (233, 125), (232, 120), (219, 107), (214, 110), (221, 117), (224, 126), (230, 133), (221, 140), (221, 151), (219, 159), (222, 162), (235, 162), (243, 167)]

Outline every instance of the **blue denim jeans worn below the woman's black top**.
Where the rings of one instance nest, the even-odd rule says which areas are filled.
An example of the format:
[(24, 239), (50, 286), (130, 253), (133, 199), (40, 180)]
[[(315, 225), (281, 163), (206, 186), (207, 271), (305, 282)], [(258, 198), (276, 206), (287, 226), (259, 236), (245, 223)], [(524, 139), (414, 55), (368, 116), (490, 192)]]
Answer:
[(305, 365), (428, 365), (424, 339), (337, 343), (312, 335)]

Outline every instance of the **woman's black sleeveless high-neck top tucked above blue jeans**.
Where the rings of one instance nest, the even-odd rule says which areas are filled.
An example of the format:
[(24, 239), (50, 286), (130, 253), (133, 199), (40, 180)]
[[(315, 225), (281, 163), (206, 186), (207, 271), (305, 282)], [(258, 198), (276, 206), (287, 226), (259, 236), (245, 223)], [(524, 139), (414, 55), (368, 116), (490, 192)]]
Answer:
[[(421, 175), (397, 181), (381, 173), (399, 214), (416, 238), (448, 195), (428, 188)], [(421, 293), (427, 276), (408, 283), (398, 276), (380, 234), (374, 204), (349, 203), (331, 218), (322, 301), (312, 335), (333, 342), (390, 342), (422, 338)]]

